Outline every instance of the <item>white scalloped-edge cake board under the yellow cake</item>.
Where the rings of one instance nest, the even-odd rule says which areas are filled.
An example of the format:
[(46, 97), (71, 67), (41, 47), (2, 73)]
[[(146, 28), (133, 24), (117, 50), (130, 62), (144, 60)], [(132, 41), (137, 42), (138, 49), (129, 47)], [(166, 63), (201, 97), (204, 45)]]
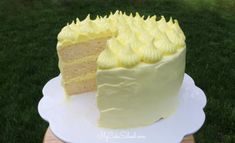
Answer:
[[(205, 121), (206, 96), (185, 74), (176, 113), (150, 126), (134, 129), (104, 129), (96, 126), (99, 112), (95, 93), (67, 98), (61, 77), (51, 79), (43, 88), (38, 104), (40, 116), (49, 122), (52, 132), (71, 143), (179, 143), (195, 133)], [(170, 138), (169, 138), (170, 137)]]

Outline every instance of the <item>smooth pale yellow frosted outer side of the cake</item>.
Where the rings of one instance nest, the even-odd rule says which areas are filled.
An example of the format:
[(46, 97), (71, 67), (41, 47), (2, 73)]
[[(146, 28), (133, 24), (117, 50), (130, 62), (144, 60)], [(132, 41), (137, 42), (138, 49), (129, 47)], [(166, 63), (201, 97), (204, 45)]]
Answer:
[(141, 127), (173, 114), (178, 107), (185, 54), (184, 48), (156, 64), (98, 70), (99, 126)]

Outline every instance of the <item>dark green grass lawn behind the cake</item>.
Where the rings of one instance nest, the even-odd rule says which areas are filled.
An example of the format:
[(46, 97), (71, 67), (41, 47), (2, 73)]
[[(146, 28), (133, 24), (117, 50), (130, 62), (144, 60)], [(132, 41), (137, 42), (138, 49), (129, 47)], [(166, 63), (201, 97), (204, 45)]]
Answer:
[(235, 142), (235, 2), (232, 0), (1, 0), (0, 142), (42, 142), (48, 124), (37, 112), (42, 87), (59, 74), (60, 29), (88, 13), (120, 9), (177, 18), (187, 37), (186, 72), (208, 99), (198, 143)]

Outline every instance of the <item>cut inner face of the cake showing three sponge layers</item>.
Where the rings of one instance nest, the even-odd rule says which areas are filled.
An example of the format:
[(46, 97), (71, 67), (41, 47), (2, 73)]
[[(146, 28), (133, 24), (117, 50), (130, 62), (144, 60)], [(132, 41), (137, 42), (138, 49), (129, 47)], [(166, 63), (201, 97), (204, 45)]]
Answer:
[(96, 89), (96, 60), (105, 48), (106, 38), (58, 48), (59, 68), (68, 95)]

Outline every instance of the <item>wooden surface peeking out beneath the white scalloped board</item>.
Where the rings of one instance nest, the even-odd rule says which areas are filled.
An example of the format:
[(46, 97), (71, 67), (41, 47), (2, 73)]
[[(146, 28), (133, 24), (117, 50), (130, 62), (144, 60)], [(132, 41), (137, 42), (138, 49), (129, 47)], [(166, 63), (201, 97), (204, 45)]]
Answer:
[[(50, 130), (50, 128), (47, 129), (43, 143), (63, 143), (61, 140), (59, 140)], [(194, 138), (192, 135), (184, 137), (183, 141), (181, 143), (195, 143)]]

